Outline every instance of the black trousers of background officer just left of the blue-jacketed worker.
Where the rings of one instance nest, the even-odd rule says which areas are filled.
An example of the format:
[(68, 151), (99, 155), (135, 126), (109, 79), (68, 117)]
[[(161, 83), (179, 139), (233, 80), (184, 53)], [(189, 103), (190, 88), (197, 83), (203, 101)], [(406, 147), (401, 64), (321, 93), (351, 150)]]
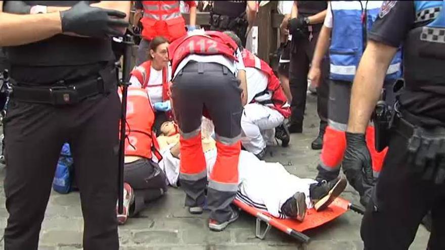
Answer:
[[(306, 109), (307, 74), (312, 61), (319, 32), (313, 32), (313, 37), (292, 37), (290, 65), (289, 65), (289, 86), (292, 94), (290, 125), (302, 125), (304, 111)], [(328, 117), (328, 95), (329, 85), (329, 60), (322, 62), (322, 76), (320, 86), (317, 88), (317, 111), (321, 123), (327, 123)]]

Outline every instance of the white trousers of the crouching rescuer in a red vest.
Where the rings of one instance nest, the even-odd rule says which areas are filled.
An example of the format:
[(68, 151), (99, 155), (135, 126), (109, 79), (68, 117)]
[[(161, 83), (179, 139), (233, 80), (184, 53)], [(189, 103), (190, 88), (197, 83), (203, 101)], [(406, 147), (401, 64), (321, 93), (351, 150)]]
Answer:
[(275, 137), (275, 128), (284, 121), (280, 112), (260, 104), (247, 104), (241, 116), (241, 143), (247, 151), (258, 154)]

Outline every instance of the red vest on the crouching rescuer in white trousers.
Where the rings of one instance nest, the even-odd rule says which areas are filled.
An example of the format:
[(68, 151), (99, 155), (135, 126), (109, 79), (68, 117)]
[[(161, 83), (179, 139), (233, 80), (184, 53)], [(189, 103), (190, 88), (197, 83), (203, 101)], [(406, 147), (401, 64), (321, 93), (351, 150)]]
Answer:
[[(291, 111), (290, 106), (287, 103), (287, 97), (281, 87), (280, 80), (275, 76), (272, 68), (247, 49), (243, 49), (242, 55), (245, 67), (256, 68), (268, 75), (269, 79), (268, 87), (264, 91), (256, 94), (253, 98), (253, 102), (271, 107), (280, 112), (284, 118), (289, 118)], [(270, 94), (271, 97), (265, 99), (264, 97), (267, 96), (267, 94)]]

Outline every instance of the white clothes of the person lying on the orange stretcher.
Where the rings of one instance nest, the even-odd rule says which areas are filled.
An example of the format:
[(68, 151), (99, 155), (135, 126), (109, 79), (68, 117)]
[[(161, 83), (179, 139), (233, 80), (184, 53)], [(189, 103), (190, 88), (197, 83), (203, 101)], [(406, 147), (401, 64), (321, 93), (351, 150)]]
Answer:
[[(161, 154), (163, 160), (159, 162), (159, 166), (165, 171), (170, 185), (176, 186), (180, 161), (174, 158), (168, 149)], [(216, 148), (204, 154), (207, 176), (210, 175), (215, 164), (216, 154)], [(241, 151), (238, 171), (237, 198), (249, 206), (267, 211), (272, 216), (284, 218), (281, 206), (296, 192), (302, 192), (306, 195), (306, 206), (313, 207), (309, 197), (309, 186), (317, 181), (298, 178), (287, 172), (280, 163), (260, 161), (252, 153)]]

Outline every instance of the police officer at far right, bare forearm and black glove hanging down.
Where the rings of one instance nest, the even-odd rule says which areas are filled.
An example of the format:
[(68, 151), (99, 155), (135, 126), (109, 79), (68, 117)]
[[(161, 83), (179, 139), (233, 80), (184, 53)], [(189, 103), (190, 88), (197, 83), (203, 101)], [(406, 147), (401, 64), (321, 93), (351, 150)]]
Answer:
[(428, 211), (428, 249), (445, 249), (445, 2), (385, 1), (368, 38), (352, 86), (343, 162), (370, 173), (363, 178), (372, 178), (361, 169), (369, 157), (364, 131), (400, 44), (405, 87), (396, 93), (389, 150), (362, 222), (365, 249), (408, 249)]

